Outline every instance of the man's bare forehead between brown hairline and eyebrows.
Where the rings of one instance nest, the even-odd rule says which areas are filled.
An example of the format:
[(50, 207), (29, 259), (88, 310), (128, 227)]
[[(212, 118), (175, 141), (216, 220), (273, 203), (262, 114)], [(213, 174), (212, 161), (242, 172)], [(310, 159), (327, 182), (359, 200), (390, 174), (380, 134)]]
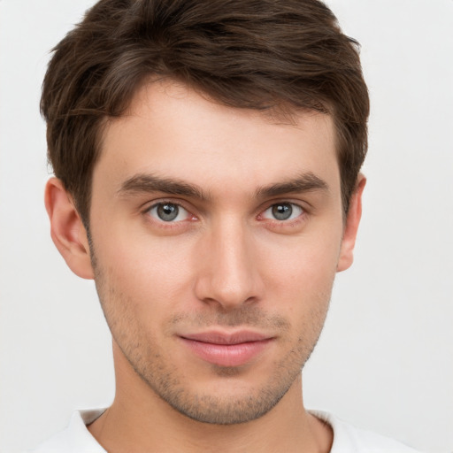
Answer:
[(158, 173), (209, 189), (240, 183), (255, 190), (311, 172), (339, 185), (334, 142), (329, 115), (302, 111), (285, 120), (154, 81), (137, 91), (124, 116), (108, 123), (93, 182), (103, 172), (117, 186), (137, 173)]

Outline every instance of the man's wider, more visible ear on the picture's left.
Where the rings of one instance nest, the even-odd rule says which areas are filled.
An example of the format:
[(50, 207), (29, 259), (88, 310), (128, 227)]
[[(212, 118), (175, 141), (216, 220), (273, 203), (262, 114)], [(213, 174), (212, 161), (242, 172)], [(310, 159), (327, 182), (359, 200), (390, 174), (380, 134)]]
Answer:
[(50, 235), (70, 269), (82, 279), (93, 279), (93, 267), (88, 235), (73, 198), (61, 180), (50, 178), (45, 188), (44, 202), (50, 219)]

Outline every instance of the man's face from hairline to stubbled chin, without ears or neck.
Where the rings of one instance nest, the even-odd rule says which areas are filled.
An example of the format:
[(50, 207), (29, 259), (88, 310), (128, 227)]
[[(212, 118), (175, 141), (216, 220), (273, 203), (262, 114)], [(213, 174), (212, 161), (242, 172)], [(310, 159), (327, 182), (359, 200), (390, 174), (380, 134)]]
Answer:
[(300, 385), (342, 232), (329, 116), (282, 124), (156, 82), (105, 130), (96, 287), (120, 354), (190, 418), (248, 421)]

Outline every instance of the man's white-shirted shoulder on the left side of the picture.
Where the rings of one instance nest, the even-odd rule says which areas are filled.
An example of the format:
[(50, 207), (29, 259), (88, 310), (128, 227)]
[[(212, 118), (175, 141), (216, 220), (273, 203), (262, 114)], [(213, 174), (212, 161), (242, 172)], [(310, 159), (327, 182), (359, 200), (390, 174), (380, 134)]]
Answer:
[(68, 426), (63, 431), (27, 453), (106, 453), (87, 429), (87, 425), (103, 412), (104, 409), (73, 412)]

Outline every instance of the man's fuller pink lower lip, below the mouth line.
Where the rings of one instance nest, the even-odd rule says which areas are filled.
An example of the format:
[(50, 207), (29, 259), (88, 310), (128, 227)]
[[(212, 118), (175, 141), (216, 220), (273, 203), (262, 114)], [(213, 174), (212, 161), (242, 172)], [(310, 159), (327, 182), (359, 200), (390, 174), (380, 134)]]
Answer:
[(256, 358), (272, 339), (261, 340), (259, 342), (244, 342), (238, 344), (215, 344), (197, 342), (188, 338), (181, 340), (204, 361), (219, 366), (241, 366), (246, 365)]

